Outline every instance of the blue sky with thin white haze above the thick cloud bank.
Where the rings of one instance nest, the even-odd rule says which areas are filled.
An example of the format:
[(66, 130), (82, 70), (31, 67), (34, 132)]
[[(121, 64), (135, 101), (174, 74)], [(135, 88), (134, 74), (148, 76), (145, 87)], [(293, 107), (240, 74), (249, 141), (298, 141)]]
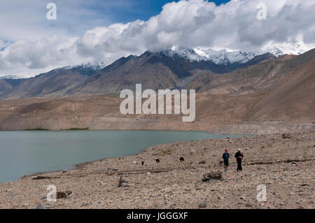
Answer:
[[(179, 0), (176, 0), (178, 2)], [(57, 20), (47, 20), (46, 5), (57, 5)], [(78, 36), (94, 27), (148, 20), (171, 0), (1, 0), (0, 39), (38, 40), (47, 35)], [(213, 1), (217, 5), (227, 0)]]

